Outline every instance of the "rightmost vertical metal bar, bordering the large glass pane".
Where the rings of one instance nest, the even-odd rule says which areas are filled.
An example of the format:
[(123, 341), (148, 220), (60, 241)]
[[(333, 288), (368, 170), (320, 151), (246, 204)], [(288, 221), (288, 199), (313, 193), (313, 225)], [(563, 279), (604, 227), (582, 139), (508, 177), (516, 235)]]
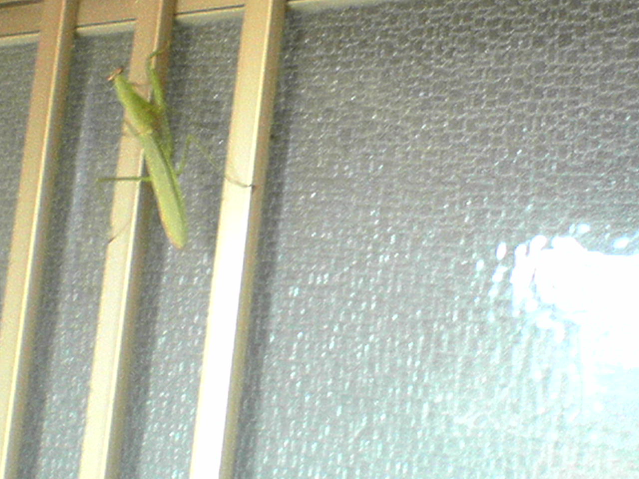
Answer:
[(231, 479), (285, 0), (248, 0), (229, 130), (191, 479)]

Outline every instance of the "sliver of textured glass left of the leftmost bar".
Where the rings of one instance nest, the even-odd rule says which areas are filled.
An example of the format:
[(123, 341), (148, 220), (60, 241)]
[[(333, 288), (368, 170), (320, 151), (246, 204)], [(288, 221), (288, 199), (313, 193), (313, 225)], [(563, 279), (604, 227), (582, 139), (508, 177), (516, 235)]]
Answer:
[(6, 287), (15, 202), (35, 61), (35, 45), (0, 48), (0, 311)]

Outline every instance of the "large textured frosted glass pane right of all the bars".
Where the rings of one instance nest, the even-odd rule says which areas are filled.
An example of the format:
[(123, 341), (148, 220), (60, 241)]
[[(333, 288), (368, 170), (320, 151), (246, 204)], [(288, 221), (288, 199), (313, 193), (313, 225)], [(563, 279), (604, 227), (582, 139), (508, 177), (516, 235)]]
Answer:
[(289, 11), (236, 478), (639, 478), (638, 33)]

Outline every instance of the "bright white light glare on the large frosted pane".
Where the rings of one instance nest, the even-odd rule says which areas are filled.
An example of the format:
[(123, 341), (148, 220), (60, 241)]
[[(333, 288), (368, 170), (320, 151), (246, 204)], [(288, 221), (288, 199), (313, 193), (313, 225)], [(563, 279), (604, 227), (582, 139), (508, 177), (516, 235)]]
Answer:
[[(588, 231), (588, 225), (578, 225), (574, 234)], [(612, 246), (625, 248), (632, 239), (618, 238)], [(514, 266), (498, 265), (493, 273), (491, 293), (509, 280), (513, 316), (553, 331), (557, 344), (567, 327), (578, 326), (586, 393), (599, 392), (596, 377), (606, 370), (639, 368), (639, 254), (604, 254), (572, 236), (541, 235), (512, 254)], [(504, 243), (496, 255), (506, 256)]]

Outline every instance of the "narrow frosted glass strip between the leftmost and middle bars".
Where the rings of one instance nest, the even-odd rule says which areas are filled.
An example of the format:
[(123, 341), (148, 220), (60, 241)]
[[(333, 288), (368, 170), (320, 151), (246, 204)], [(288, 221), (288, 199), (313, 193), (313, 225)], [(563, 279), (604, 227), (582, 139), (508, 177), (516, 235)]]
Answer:
[(20, 478), (77, 477), (109, 241), (121, 108), (107, 82), (130, 36), (75, 38), (47, 238)]

